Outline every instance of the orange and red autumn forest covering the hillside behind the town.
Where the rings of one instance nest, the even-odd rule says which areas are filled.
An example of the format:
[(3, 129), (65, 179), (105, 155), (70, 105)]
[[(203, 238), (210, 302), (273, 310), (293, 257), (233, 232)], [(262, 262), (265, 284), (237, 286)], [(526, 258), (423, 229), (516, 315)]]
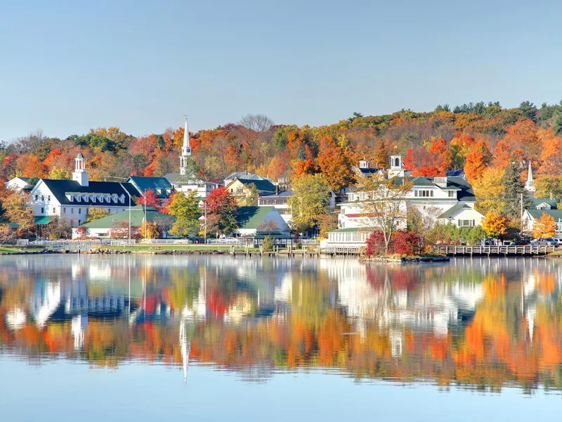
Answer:
[[(353, 113), (320, 127), (274, 124), (263, 115), (190, 134), (200, 177), (221, 181), (247, 170), (277, 181), (322, 174), (335, 192), (354, 182), (353, 165), (370, 160), (386, 167), (389, 155), (403, 155), (413, 176), (463, 170), (482, 212), (516, 215), (522, 181), (532, 163), (537, 195), (562, 198), (562, 101), (518, 108), (468, 103), (431, 112), (400, 110), (380, 116)], [(163, 176), (178, 171), (183, 127), (132, 136), (119, 127), (91, 129), (66, 139), (41, 131), (0, 143), (0, 182), (12, 177), (65, 179), (80, 151), (91, 180), (130, 175)], [(517, 181), (514, 184), (514, 181)]]

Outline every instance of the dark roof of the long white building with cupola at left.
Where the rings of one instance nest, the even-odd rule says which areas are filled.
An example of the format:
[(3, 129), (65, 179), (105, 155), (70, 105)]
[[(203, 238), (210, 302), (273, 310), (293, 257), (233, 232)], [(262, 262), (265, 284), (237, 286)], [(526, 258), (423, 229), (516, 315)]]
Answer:
[[(89, 205), (90, 200), (81, 200), (80, 202), (68, 200), (65, 193), (66, 192), (78, 192), (78, 193), (109, 193), (113, 195), (114, 193), (117, 196), (125, 196), (125, 203), (129, 204), (129, 198), (127, 195), (127, 191), (131, 194), (131, 196), (140, 196), (140, 193), (136, 190), (136, 188), (130, 183), (122, 183), (116, 181), (91, 181), (89, 182), (89, 186), (80, 186), (77, 181), (74, 180), (54, 180), (54, 179), (41, 179), (43, 183), (49, 188), (49, 190), (53, 193), (55, 198), (57, 198), (58, 202), (62, 205)], [(36, 185), (37, 186), (37, 185)], [(91, 204), (100, 204), (97, 202), (92, 202)], [(123, 204), (115, 204), (115, 203), (107, 203), (107, 205), (123, 205)]]

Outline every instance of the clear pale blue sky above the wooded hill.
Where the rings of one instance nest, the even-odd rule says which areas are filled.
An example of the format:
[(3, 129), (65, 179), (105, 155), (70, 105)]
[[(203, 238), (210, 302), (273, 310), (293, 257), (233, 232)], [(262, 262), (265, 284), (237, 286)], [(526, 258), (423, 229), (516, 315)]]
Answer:
[(557, 0), (0, 1), (0, 140), (562, 98)]

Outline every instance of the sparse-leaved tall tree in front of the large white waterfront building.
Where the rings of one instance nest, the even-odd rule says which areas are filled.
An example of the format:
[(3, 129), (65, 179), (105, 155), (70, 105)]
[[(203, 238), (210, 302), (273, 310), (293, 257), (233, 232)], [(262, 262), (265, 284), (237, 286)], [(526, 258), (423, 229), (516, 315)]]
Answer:
[(409, 179), (399, 182), (396, 177), (386, 179), (382, 174), (374, 174), (372, 177), (361, 174), (355, 184), (355, 191), (363, 196), (360, 207), (367, 227), (381, 231), (385, 252), (388, 252), (394, 231), (406, 225), (405, 199), (413, 186)]

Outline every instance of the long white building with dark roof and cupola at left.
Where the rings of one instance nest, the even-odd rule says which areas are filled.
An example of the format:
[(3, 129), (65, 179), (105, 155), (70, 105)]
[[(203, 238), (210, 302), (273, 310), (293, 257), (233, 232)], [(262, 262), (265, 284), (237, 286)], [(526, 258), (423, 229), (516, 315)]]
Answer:
[(89, 181), (86, 159), (79, 153), (72, 180), (39, 179), (30, 193), (30, 205), (36, 217), (59, 217), (79, 226), (86, 222), (91, 208), (110, 214), (126, 210), (129, 196), (141, 193), (129, 183)]

